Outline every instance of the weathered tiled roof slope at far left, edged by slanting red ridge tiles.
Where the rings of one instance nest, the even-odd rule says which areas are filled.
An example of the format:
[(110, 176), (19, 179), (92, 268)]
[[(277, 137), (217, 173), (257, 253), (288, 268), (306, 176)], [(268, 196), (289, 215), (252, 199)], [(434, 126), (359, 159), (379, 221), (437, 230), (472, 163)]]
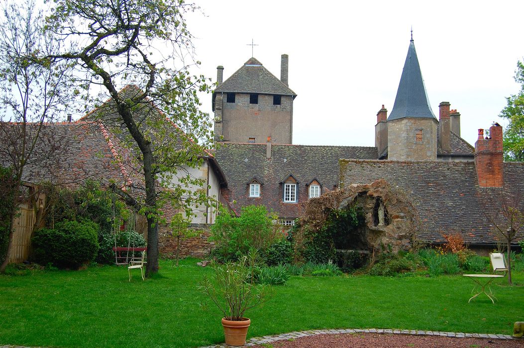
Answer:
[[(5, 129), (8, 128), (3, 127)], [(112, 182), (119, 186), (140, 186), (143, 180), (134, 177), (132, 168), (120, 161), (126, 154), (118, 153), (113, 143), (116, 143), (114, 135), (104, 132), (99, 122), (43, 125), (34, 155), (25, 167), (23, 181), (33, 184), (52, 181), (75, 187), (93, 179), (106, 186)], [(0, 145), (0, 163), (4, 166), (12, 163), (9, 155), (13, 149), (8, 145), (9, 142)]]

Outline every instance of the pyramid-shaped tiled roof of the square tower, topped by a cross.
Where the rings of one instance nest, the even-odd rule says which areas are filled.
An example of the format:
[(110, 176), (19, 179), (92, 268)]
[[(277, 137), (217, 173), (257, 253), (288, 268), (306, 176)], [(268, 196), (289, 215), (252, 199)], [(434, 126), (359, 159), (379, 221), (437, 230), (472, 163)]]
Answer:
[(240, 69), (215, 89), (216, 92), (280, 94), (296, 97), (297, 94), (264, 68), (255, 58), (249, 59)]

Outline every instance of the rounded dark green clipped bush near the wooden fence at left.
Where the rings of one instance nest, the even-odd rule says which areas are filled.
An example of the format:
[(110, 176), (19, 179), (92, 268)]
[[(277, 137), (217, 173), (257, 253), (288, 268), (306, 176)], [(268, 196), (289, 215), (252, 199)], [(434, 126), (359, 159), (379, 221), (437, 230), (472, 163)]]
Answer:
[(78, 268), (95, 259), (99, 250), (99, 226), (92, 221), (61, 221), (54, 229), (43, 228), (32, 238), (35, 261)]

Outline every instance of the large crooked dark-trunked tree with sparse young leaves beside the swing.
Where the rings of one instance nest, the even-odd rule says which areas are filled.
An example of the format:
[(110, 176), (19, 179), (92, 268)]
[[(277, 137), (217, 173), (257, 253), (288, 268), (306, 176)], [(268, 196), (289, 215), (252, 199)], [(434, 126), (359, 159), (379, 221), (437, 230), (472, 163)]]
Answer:
[[(130, 148), (136, 150), (133, 158), (144, 177), (145, 198), (121, 194), (147, 217), (147, 275), (158, 271), (162, 205), (189, 211), (193, 203), (205, 204), (207, 199), (202, 192), (191, 192), (191, 185), (202, 183), (183, 171), (184, 166), (201, 163), (204, 148), (213, 139), (197, 95), (210, 86), (203, 76), (192, 76), (185, 63), (185, 59), (198, 63), (192, 61), (191, 35), (184, 20), (184, 14), (195, 9), (181, 0), (56, 0), (48, 17), (48, 29), (63, 48), (48, 58), (76, 64), (78, 75), (85, 76), (78, 86), (88, 105), (101, 105), (103, 99), (90, 93), (96, 87), (105, 89), (118, 124), (133, 140)], [(137, 87), (133, 93), (119, 93), (130, 84)], [(163, 117), (149, 117), (151, 113), (144, 112), (148, 105)], [(179, 131), (170, 131), (173, 127)]]

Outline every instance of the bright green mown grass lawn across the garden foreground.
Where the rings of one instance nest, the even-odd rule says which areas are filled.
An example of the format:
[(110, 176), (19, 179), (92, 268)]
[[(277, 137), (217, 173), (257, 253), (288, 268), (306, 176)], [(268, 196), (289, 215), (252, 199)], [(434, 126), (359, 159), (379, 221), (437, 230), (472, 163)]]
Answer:
[[(0, 276), (0, 345), (195, 347), (223, 342), (220, 313), (196, 290), (209, 268), (162, 262), (160, 275), (129, 283), (125, 267)], [(524, 274), (514, 274), (518, 284)], [(524, 320), (524, 286), (506, 279), (471, 304), (462, 276), (291, 277), (248, 312), (248, 337), (321, 328), (512, 333)], [(206, 308), (202, 302), (209, 303)]]

